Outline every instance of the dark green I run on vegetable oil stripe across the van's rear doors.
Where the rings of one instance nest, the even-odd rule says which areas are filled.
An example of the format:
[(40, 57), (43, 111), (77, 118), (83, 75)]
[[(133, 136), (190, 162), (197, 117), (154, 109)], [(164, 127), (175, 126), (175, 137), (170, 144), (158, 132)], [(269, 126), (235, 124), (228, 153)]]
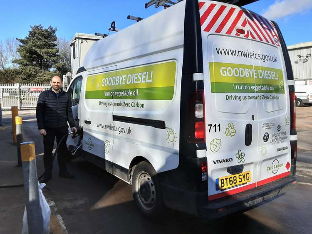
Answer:
[[(258, 89), (258, 90), (256, 90)], [(282, 90), (280, 90), (282, 89)], [(284, 93), (284, 86), (249, 83), (211, 83), (212, 93)]]

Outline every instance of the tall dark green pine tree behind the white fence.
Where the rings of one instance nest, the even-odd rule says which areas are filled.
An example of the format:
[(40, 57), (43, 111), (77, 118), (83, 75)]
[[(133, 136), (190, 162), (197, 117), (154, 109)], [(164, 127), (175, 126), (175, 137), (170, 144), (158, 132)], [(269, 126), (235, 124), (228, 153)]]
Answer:
[(20, 59), (14, 62), (19, 65), (20, 82), (38, 82), (41, 74), (54, 74), (51, 68), (59, 59), (56, 31), (52, 26), (34, 25), (27, 37), (17, 38)]

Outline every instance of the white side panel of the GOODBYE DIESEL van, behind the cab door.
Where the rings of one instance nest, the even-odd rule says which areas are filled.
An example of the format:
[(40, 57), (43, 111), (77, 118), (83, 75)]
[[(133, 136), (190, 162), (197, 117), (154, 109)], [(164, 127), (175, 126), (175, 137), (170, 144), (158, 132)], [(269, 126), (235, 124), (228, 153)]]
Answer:
[(184, 9), (182, 2), (95, 42), (83, 61), (85, 149), (120, 178), (137, 156), (156, 172), (179, 165)]

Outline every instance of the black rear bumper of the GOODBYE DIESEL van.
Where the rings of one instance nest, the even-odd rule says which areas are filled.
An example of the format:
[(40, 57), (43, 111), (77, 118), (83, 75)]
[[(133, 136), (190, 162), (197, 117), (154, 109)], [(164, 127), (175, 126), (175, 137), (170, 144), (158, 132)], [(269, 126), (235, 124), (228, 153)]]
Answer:
[(290, 175), (241, 193), (208, 202), (207, 193), (183, 191), (162, 184), (166, 206), (205, 219), (216, 219), (238, 211), (247, 211), (284, 195), (286, 190), (296, 186), (296, 177)]

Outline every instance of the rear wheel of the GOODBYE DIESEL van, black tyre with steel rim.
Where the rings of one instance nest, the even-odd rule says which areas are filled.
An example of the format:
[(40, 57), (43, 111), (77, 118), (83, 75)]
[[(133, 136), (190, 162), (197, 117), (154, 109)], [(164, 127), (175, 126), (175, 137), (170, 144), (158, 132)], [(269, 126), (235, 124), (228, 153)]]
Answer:
[(146, 161), (138, 163), (132, 175), (132, 195), (140, 212), (147, 218), (156, 218), (164, 209), (157, 173)]

